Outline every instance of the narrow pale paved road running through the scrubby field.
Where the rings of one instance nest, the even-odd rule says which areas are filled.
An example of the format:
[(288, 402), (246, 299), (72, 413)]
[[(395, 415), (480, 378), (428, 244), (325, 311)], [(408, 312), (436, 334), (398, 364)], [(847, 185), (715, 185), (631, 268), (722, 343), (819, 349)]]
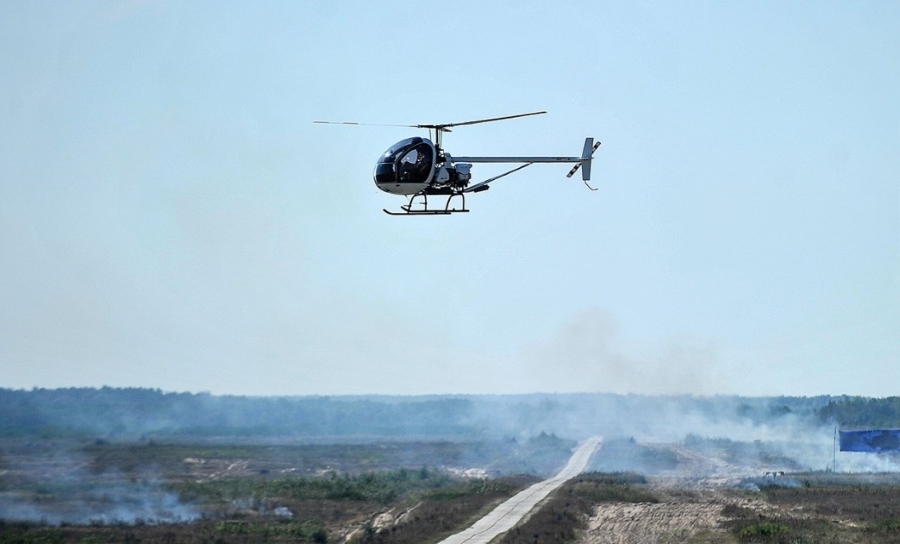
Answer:
[(442, 540), (441, 544), (487, 544), (497, 536), (512, 529), (541, 499), (561, 486), (566, 480), (580, 474), (587, 467), (591, 455), (601, 441), (602, 439), (599, 436), (588, 439), (575, 450), (572, 458), (559, 471), (559, 474), (549, 480), (538, 482), (524, 491), (520, 491), (519, 494), (495, 508), (490, 514), (475, 522), (475, 525)]

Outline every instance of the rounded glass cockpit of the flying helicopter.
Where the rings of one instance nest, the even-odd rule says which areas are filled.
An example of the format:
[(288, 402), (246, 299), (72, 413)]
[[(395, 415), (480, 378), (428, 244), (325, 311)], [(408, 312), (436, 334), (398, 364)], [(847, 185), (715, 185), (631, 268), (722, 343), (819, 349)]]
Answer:
[(375, 185), (397, 195), (413, 195), (428, 187), (434, 176), (437, 150), (431, 140), (407, 138), (384, 152), (375, 166)]

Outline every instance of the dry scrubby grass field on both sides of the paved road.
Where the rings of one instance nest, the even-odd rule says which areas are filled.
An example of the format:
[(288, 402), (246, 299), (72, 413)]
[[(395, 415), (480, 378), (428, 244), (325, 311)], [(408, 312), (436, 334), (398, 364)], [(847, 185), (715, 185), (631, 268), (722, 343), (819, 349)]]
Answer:
[[(523, 444), (0, 441), (0, 544), (427, 544), (552, 474), (571, 446), (548, 436)], [(677, 463), (651, 453), (648, 466)], [(582, 474), (502, 542), (900, 542), (897, 474), (797, 472), (714, 489), (663, 480)]]

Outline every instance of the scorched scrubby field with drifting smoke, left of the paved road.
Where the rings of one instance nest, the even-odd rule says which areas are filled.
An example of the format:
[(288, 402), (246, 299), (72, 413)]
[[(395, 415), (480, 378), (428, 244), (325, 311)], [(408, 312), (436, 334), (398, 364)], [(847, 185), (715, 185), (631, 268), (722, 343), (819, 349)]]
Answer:
[[(522, 444), (0, 441), (0, 544), (437, 541), (558, 469), (570, 448), (543, 434)], [(11, 521), (23, 511), (29, 521)]]

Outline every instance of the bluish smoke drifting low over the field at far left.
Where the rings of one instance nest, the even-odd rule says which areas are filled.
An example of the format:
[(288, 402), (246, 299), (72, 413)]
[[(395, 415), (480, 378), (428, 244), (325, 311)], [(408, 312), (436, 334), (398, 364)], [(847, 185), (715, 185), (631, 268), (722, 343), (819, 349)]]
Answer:
[(198, 519), (152, 469), (93, 473), (71, 449), (14, 457), (0, 476), (0, 519), (51, 525), (162, 524)]

